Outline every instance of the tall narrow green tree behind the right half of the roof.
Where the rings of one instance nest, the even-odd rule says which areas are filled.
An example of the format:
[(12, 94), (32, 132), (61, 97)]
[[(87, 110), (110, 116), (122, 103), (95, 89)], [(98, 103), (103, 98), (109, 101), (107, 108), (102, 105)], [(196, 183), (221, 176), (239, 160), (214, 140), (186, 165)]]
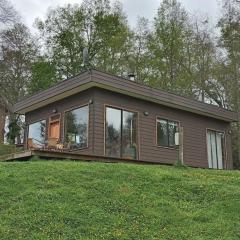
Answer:
[[(187, 12), (176, 0), (164, 0), (154, 19), (153, 33), (149, 39), (152, 53), (149, 83), (155, 87), (178, 93), (191, 94), (192, 82), (184, 69), (189, 19)], [(190, 91), (187, 93), (186, 91)]]

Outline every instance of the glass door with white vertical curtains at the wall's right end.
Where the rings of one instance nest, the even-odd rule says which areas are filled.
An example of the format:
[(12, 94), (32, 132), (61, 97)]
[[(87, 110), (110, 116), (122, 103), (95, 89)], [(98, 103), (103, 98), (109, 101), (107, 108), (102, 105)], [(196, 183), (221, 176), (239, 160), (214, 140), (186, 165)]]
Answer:
[(224, 161), (224, 134), (207, 130), (208, 166), (214, 169), (223, 169)]

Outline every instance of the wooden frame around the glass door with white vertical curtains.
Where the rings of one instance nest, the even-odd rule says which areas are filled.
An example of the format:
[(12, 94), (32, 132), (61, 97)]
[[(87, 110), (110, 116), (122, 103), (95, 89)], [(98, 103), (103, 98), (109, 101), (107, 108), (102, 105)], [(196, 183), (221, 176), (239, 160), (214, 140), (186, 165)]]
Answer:
[[(227, 163), (228, 163), (228, 151), (227, 151), (227, 134), (226, 131), (224, 130), (219, 130), (219, 129), (215, 129), (215, 128), (206, 128), (206, 159), (207, 159), (207, 166), (209, 168), (209, 164), (208, 164), (208, 131), (212, 131), (215, 133), (222, 133), (223, 134), (223, 170), (227, 169)], [(215, 169), (215, 168), (209, 168), (209, 169), (213, 169), (213, 170), (221, 170), (219, 168)]]

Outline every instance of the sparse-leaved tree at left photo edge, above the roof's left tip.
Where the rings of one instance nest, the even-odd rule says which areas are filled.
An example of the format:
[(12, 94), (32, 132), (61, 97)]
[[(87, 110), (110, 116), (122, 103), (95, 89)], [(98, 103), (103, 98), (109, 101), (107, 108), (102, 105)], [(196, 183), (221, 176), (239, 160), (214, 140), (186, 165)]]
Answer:
[(16, 23), (1, 32), (0, 94), (15, 103), (26, 95), (37, 47), (27, 27)]

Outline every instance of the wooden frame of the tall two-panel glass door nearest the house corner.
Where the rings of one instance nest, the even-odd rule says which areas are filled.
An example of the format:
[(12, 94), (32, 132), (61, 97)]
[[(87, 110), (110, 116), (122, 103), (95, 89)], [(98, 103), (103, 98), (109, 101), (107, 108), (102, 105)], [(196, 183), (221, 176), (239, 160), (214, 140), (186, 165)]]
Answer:
[[(108, 157), (106, 155), (106, 123), (107, 123), (107, 119), (106, 119), (106, 110), (107, 108), (113, 108), (113, 109), (117, 109), (117, 110), (120, 110), (121, 111), (121, 130), (122, 130), (122, 112), (123, 111), (127, 111), (127, 112), (132, 112), (132, 113), (136, 113), (137, 114), (137, 136), (136, 136), (136, 140), (137, 140), (137, 151), (136, 151), (136, 159), (132, 159), (132, 161), (135, 161), (135, 160), (138, 160), (140, 159), (140, 137), (139, 137), (139, 112), (136, 111), (136, 110), (132, 110), (132, 109), (128, 109), (128, 108), (125, 108), (125, 107), (120, 107), (120, 106), (116, 106), (116, 105), (110, 105), (110, 104), (104, 104), (104, 128), (103, 128), (103, 131), (104, 131), (104, 140), (103, 140), (103, 144), (104, 144), (104, 156), (105, 157)], [(121, 131), (121, 141), (122, 141), (122, 131)], [(118, 157), (108, 157), (108, 158), (116, 158), (116, 159), (119, 159)], [(128, 158), (124, 158), (122, 157), (122, 143), (121, 143), (121, 156), (120, 156), (120, 159), (126, 159), (126, 160), (129, 160)]]

